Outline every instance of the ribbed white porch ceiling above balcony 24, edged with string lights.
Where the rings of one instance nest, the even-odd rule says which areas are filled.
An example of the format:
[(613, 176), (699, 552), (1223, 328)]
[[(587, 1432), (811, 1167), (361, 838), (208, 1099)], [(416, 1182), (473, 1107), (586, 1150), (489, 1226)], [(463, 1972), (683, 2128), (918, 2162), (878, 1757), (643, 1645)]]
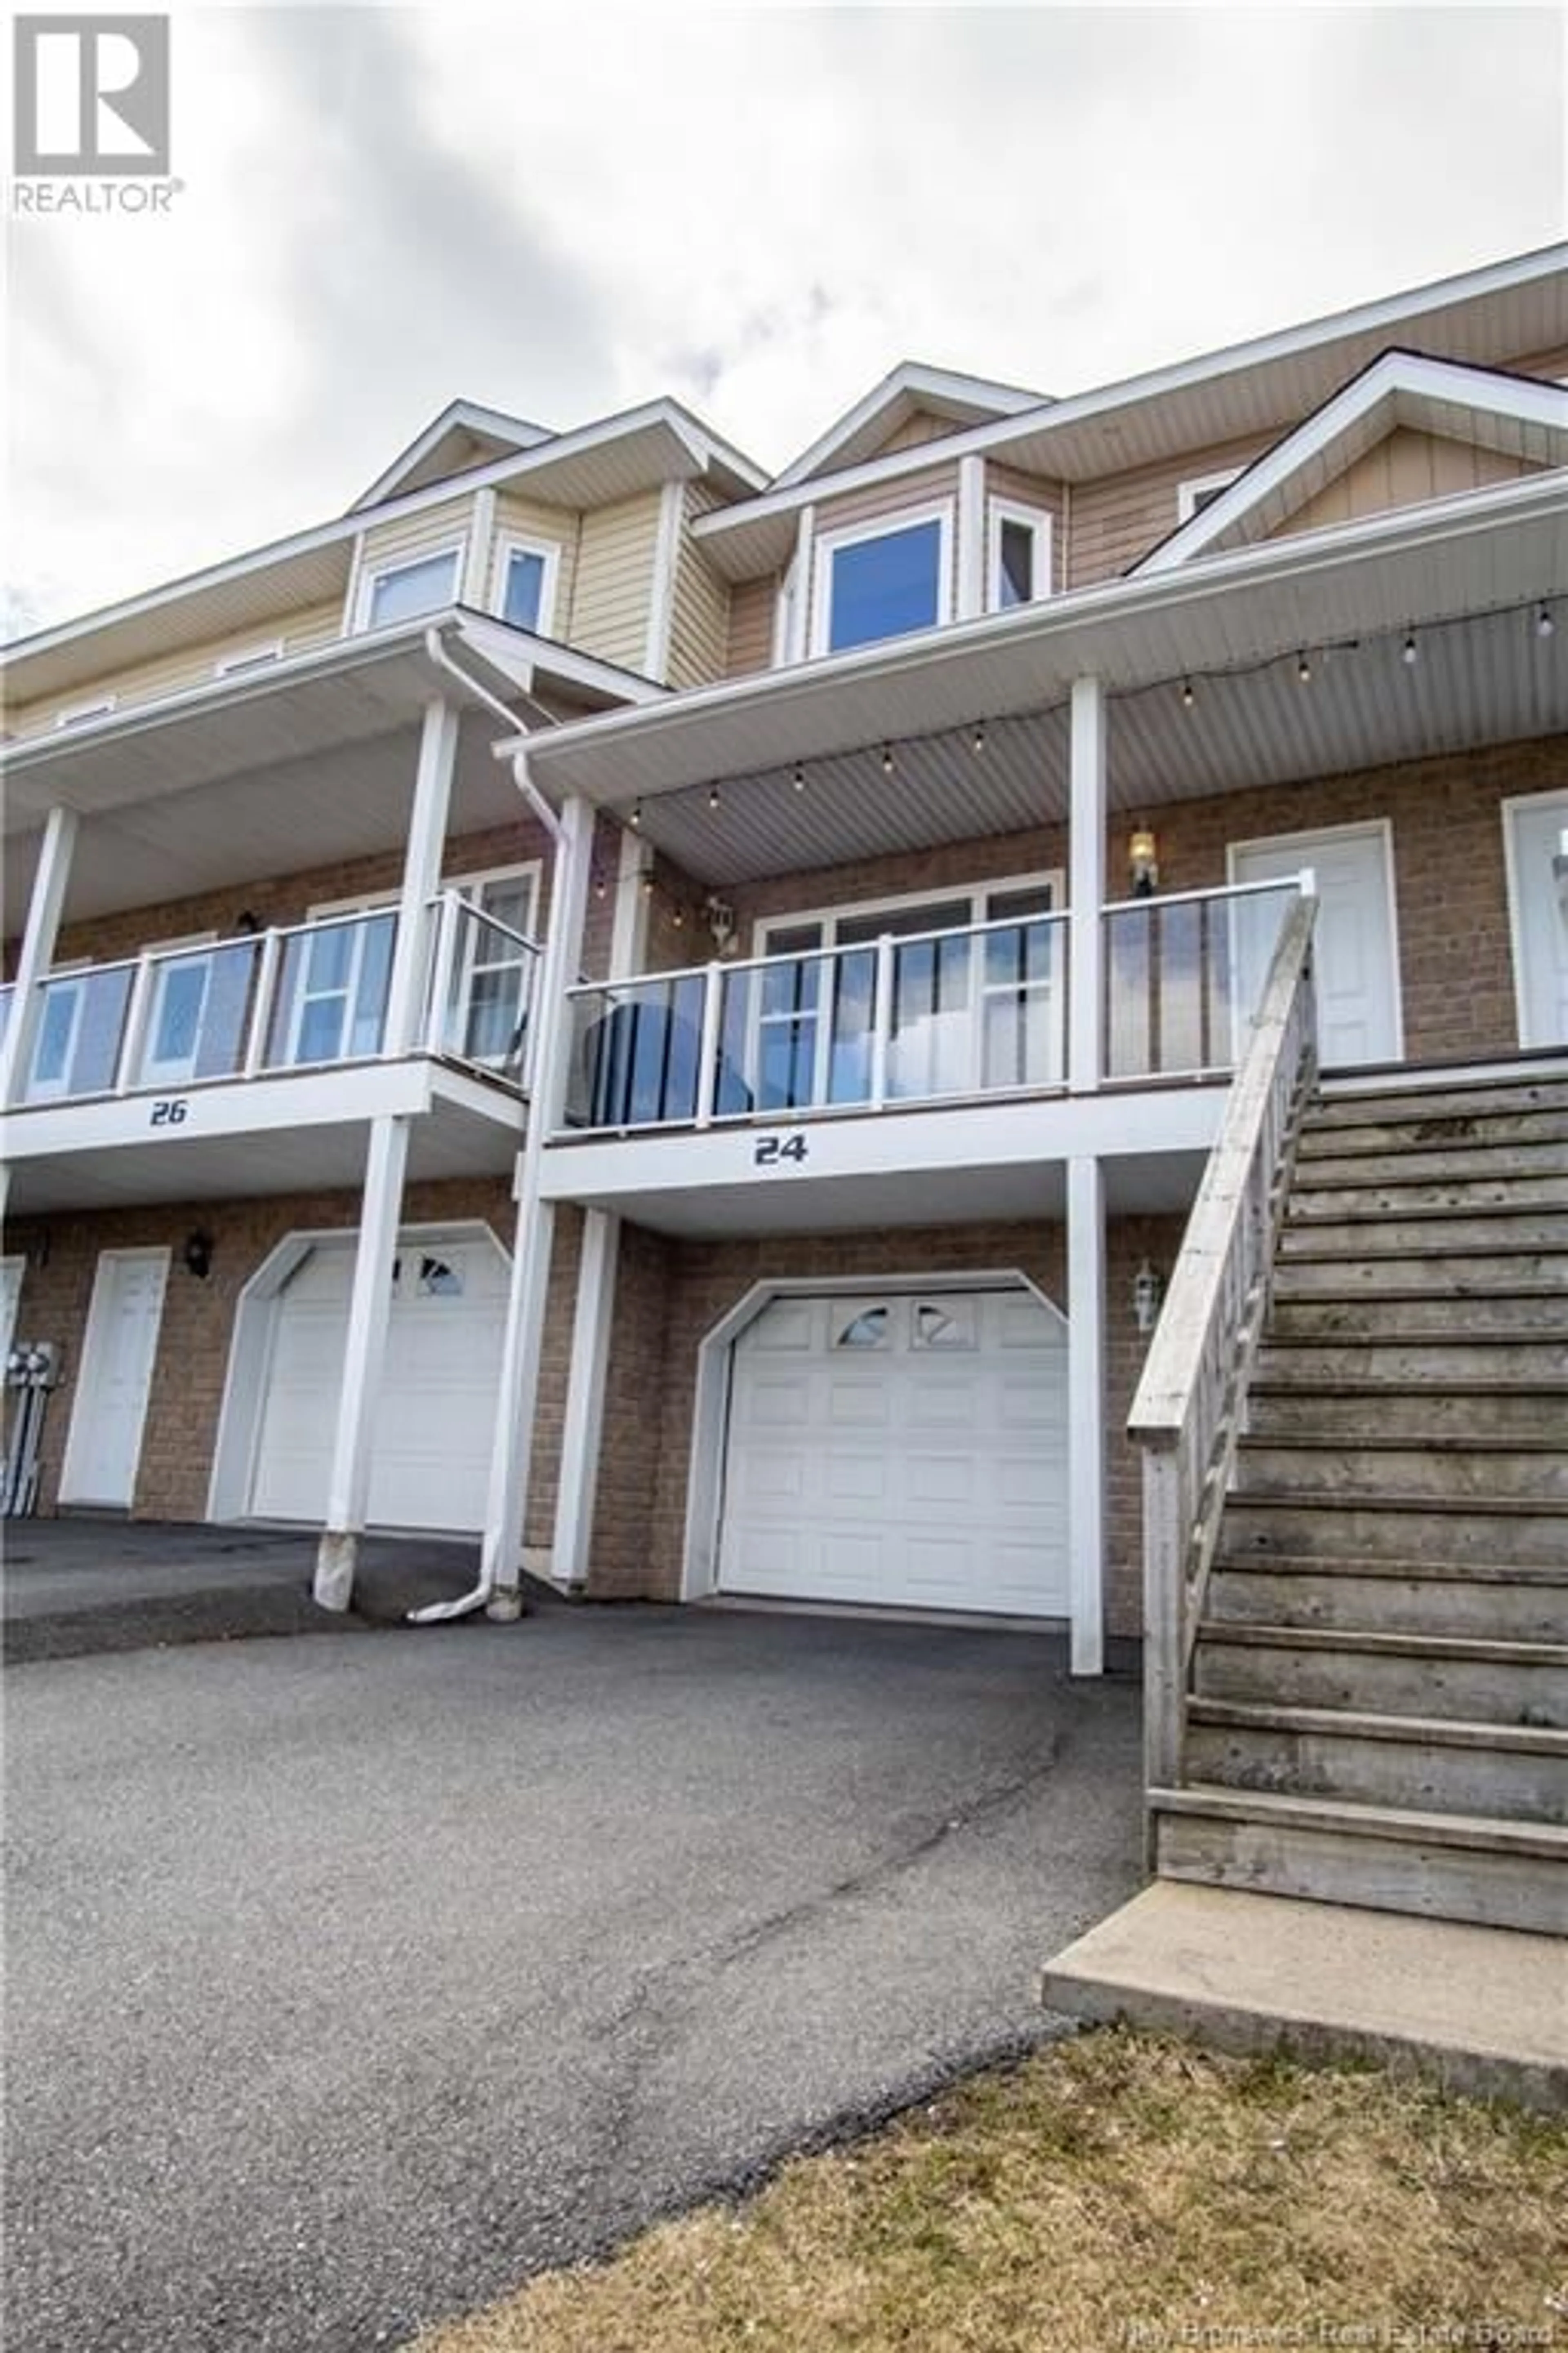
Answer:
[[(1147, 809), (1260, 784), (1295, 784), (1516, 736), (1568, 732), (1568, 612), (1542, 640), (1535, 612), (1403, 631), (1312, 649), (1234, 675), (1161, 680), (1112, 696), (1110, 805)], [(1067, 819), (1067, 706), (914, 741), (771, 767), (642, 807), (642, 835), (698, 882), (726, 887), (771, 873), (839, 866), (898, 849)]]

